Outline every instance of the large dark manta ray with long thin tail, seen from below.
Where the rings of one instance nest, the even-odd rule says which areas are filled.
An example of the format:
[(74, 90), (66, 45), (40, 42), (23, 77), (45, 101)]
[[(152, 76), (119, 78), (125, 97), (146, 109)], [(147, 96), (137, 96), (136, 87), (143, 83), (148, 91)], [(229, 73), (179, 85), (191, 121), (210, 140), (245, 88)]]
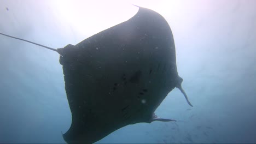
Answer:
[(154, 113), (175, 87), (192, 106), (177, 72), (170, 26), (153, 10), (139, 7), (131, 19), (77, 45), (43, 47), (58, 52), (63, 65), (72, 113), (67, 143), (93, 143), (129, 124), (175, 121)]

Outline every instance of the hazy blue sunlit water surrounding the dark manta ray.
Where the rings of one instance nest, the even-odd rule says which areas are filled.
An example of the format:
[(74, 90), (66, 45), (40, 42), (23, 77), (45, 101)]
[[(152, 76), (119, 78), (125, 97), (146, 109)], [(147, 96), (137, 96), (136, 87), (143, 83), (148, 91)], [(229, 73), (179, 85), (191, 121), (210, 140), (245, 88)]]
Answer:
[[(190, 107), (174, 88), (155, 113), (96, 143), (256, 143), (256, 1), (0, 1), (0, 33), (54, 48), (138, 11), (165, 17)], [(71, 126), (59, 54), (0, 35), (0, 143), (65, 143)]]

